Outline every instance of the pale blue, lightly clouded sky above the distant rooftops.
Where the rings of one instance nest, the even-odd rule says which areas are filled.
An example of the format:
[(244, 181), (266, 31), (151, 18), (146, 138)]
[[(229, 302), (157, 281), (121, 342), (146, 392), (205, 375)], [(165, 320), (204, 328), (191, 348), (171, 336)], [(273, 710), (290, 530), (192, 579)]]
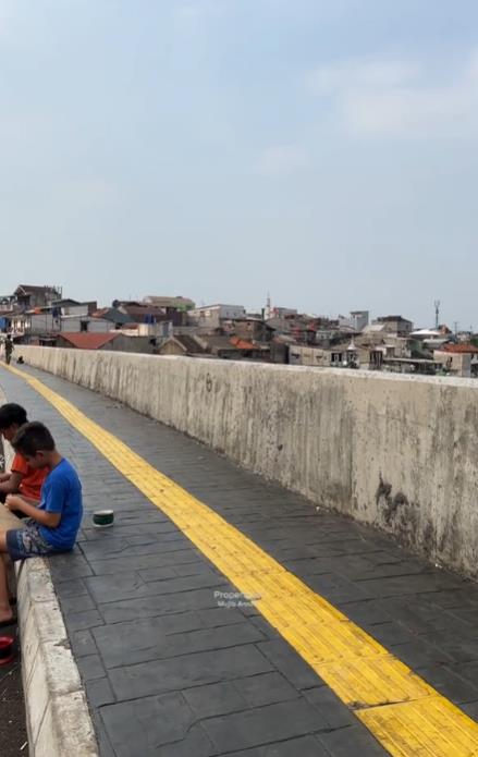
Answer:
[(0, 294), (478, 329), (476, 0), (0, 0)]

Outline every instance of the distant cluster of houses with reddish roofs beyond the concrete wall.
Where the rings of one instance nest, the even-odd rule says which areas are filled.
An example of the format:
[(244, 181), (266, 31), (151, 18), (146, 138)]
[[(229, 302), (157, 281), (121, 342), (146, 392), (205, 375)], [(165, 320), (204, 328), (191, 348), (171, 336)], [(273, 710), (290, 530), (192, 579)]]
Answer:
[(17, 345), (478, 376), (478, 341), (469, 332), (415, 329), (401, 315), (370, 321), (368, 310), (332, 319), (275, 307), (270, 300), (260, 313), (224, 303), (196, 307), (188, 297), (160, 295), (98, 307), (64, 297), (61, 286), (20, 284), (0, 297), (0, 332)]

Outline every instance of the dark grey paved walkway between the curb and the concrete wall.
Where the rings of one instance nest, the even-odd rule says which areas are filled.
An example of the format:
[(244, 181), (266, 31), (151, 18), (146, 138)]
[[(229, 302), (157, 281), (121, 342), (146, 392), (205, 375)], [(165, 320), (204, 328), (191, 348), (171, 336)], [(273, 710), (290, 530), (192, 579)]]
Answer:
[[(370, 529), (317, 513), (299, 497), (111, 400), (47, 374), (27, 368), (24, 373), (40, 378), (132, 448), (152, 483), (159, 469), (212, 511), (204, 513), (205, 546), (199, 549), (203, 541), (194, 518), (179, 527), (151, 503), (152, 493), (147, 496), (131, 483), (135, 474), (127, 460), (120, 472), (107, 459), (113, 460), (112, 447), (105, 449), (107, 457), (100, 454), (85, 439), (81, 424), (83, 434), (23, 379), (1, 371), (0, 383), (9, 399), (51, 427), (59, 448), (82, 476), (87, 515), (81, 541), (74, 554), (51, 560), (51, 570), (102, 757), (408, 756), (414, 754), (412, 736), (408, 750), (399, 752), (399, 742), (389, 737), (397, 728), (385, 717), (391, 708), (381, 706), (393, 701), (395, 686), (403, 707), (405, 679), (406, 686), (410, 681), (415, 686), (430, 684), (471, 719), (478, 718), (477, 586), (430, 567)], [(117, 465), (122, 467), (118, 459)], [(142, 489), (148, 491), (147, 481)], [(187, 497), (174, 502), (180, 522), (186, 517), (182, 513), (195, 511)], [(115, 510), (117, 523), (109, 530), (97, 530), (88, 513), (103, 506)], [(221, 518), (215, 521), (215, 513)], [(229, 569), (223, 554), (228, 523), (260, 548), (258, 581), (263, 583), (270, 570), (274, 586), (280, 589), (282, 582), (285, 587), (274, 595), (277, 630), (266, 620), (274, 618), (272, 605), (254, 606), (247, 597), (231, 596), (245, 584), (241, 584), (243, 573), (237, 573), (234, 585), (225, 577), (237, 571), (234, 565)], [(245, 550), (250, 545), (247, 539), (236, 544)], [(280, 572), (270, 567), (270, 558), (280, 563)], [(221, 571), (218, 565), (225, 567)], [(294, 576), (301, 579), (296, 584)], [(309, 605), (310, 618), (308, 589), (318, 602), (314, 616), (322, 612), (330, 620), (317, 625), (312, 635), (309, 647), (315, 657), (307, 639), (293, 635), (297, 619), (287, 615), (291, 603), (284, 600), (289, 591), (298, 612), (299, 596)], [(339, 623), (328, 602), (356, 626), (340, 618)], [(343, 628), (353, 634), (340, 637)], [(360, 628), (372, 638), (360, 636)], [(317, 645), (329, 644), (330, 654), (333, 643), (336, 659), (326, 659), (323, 652), (324, 664), (317, 657)], [(419, 679), (409, 672), (403, 681), (392, 675), (392, 691), (381, 694), (387, 697), (383, 701), (368, 700), (377, 696), (370, 683), (364, 701), (352, 699), (340, 685), (355, 664), (355, 658), (340, 647), (346, 643), (354, 651), (358, 644), (360, 649), (365, 645), (361, 658), (358, 651), (365, 660), (358, 669), (363, 677), (371, 670), (369, 650), (376, 645), (381, 655), (378, 669), (392, 664), (395, 675), (400, 660)], [(393, 657), (383, 654), (388, 651)], [(350, 677), (346, 685), (352, 685)], [(428, 692), (416, 696), (419, 704), (441, 701), (425, 695)], [(366, 707), (367, 701), (373, 707)], [(377, 712), (383, 713), (381, 720)], [(422, 746), (426, 740), (420, 742), (417, 720), (414, 737), (418, 747), (426, 748), (420, 754), (477, 754), (475, 727), (471, 720), (463, 721), (457, 721), (459, 734), (465, 734), (462, 746), (458, 734), (455, 747), (443, 750), (431, 736)]]

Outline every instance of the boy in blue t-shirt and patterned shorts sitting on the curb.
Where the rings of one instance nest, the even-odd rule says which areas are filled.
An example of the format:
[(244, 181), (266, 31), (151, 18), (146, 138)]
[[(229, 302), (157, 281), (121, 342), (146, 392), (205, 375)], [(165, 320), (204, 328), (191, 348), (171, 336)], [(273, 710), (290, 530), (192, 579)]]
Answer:
[(70, 551), (75, 545), (83, 515), (82, 485), (76, 471), (58, 452), (44, 424), (22, 426), (12, 440), (12, 447), (32, 468), (47, 468), (48, 475), (37, 506), (15, 495), (7, 497), (5, 506), (21, 510), (26, 518), (22, 528), (0, 530), (0, 627), (11, 624), (13, 618), (8, 558), (15, 561)]

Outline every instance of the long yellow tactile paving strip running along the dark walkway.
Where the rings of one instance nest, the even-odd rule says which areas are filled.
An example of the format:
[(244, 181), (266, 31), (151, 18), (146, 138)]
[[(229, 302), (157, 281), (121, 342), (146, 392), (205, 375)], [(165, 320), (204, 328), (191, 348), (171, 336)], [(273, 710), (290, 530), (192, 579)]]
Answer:
[(16, 368), (245, 595), (394, 757), (478, 757), (478, 724), (237, 528)]

